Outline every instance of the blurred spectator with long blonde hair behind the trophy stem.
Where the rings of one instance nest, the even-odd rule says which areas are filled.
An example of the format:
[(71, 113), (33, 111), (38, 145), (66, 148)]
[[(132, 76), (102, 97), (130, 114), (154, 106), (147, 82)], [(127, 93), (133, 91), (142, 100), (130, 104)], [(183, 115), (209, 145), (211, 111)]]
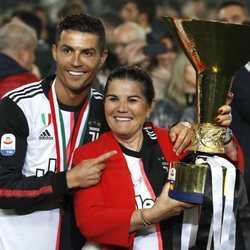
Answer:
[[(168, 71), (170, 79), (164, 81), (162, 77), (162, 86), (157, 82), (156, 77), (159, 78), (160, 75), (158, 71), (156, 67), (155, 73), (152, 73), (154, 84), (158, 84), (158, 99), (156, 94), (156, 105), (150, 120), (165, 128), (170, 128), (178, 121), (194, 123), (196, 120), (196, 72), (185, 54), (182, 52), (177, 56), (175, 54)], [(164, 96), (160, 90), (165, 92)]]

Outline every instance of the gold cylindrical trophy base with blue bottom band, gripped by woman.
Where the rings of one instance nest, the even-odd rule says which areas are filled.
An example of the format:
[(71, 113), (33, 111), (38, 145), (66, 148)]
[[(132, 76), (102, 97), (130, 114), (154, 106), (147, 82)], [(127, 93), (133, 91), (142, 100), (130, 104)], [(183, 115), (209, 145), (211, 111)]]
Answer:
[(169, 197), (179, 201), (201, 204), (208, 168), (208, 164), (171, 162), (168, 175)]

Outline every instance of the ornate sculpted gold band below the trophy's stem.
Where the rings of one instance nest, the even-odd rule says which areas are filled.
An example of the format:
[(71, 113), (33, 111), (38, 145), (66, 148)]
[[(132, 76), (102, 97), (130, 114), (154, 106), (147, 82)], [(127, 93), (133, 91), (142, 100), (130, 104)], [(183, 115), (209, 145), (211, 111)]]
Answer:
[(188, 150), (211, 154), (224, 153), (226, 128), (211, 123), (193, 124), (191, 143)]

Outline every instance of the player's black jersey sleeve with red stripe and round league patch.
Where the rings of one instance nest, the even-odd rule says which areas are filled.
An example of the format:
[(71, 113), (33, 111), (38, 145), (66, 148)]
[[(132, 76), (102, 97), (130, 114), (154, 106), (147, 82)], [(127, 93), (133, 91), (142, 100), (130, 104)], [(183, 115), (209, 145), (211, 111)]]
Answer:
[(23, 209), (58, 200), (69, 193), (66, 172), (42, 177), (22, 173), (27, 151), (28, 123), (8, 97), (0, 101), (0, 208)]

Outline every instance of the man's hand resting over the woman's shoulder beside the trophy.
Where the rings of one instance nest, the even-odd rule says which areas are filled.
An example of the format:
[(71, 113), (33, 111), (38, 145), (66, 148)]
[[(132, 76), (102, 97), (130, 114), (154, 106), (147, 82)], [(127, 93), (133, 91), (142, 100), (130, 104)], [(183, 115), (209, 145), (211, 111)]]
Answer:
[(174, 145), (174, 152), (180, 155), (191, 141), (191, 124), (188, 122), (179, 122), (171, 128), (169, 133), (171, 142)]

